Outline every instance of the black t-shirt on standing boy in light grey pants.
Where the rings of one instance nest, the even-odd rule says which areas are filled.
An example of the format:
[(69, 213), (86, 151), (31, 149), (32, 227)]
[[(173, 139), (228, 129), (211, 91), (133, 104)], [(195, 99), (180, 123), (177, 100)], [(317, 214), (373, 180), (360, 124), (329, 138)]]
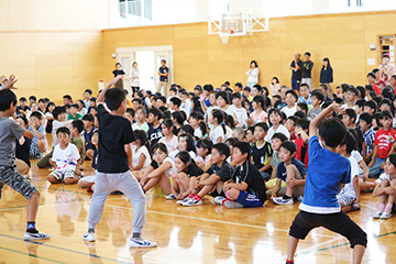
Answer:
[(135, 140), (131, 123), (123, 117), (112, 116), (102, 105), (98, 106), (100, 173), (125, 173), (129, 170), (124, 145)]

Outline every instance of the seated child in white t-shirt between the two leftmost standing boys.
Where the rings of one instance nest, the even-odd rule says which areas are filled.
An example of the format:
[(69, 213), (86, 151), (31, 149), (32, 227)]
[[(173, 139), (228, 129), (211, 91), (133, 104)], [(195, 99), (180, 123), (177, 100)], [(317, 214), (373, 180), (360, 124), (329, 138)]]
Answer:
[(55, 166), (47, 179), (51, 184), (76, 184), (77, 175), (80, 174), (79, 166), (81, 158), (76, 145), (70, 144), (70, 130), (59, 128), (56, 131), (56, 138), (59, 144), (54, 147), (54, 153), (50, 160), (51, 165)]

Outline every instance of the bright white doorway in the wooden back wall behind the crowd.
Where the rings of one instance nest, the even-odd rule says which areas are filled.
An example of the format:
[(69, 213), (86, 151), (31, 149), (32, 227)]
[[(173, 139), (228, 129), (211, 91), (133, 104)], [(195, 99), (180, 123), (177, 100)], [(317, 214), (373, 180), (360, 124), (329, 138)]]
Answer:
[[(156, 92), (156, 87), (160, 81), (158, 68), (161, 61), (166, 61), (166, 66), (169, 68), (168, 84), (173, 81), (173, 59), (172, 46), (145, 46), (145, 47), (118, 47), (117, 62), (120, 62), (122, 69), (125, 72), (123, 78), (124, 89), (129, 91), (129, 97), (132, 98), (131, 89), (131, 70), (132, 64), (138, 63), (140, 89)], [(161, 91), (165, 95), (164, 90)]]

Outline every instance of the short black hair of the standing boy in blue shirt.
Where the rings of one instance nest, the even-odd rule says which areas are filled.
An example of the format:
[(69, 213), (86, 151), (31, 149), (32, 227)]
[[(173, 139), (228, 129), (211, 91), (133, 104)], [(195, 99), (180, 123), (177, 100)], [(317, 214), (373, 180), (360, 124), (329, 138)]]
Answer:
[(346, 134), (346, 127), (339, 119), (327, 119), (319, 125), (319, 135), (326, 145), (336, 147), (342, 143)]

